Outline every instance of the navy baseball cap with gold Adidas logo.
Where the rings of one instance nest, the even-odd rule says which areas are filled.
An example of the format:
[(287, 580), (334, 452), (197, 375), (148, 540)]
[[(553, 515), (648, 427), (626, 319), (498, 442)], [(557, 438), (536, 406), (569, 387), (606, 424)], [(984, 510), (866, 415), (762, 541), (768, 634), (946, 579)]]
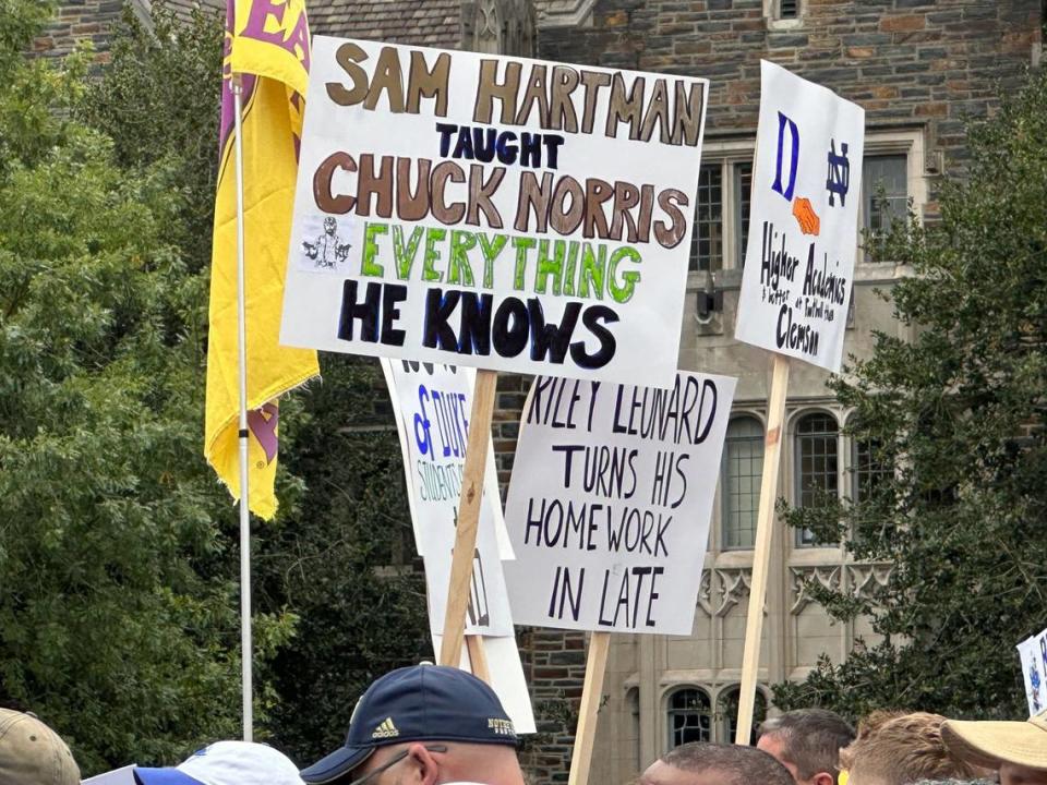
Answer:
[(472, 674), (416, 665), (372, 684), (352, 710), (346, 745), (303, 769), (324, 785), (348, 774), (378, 747), (405, 741), (461, 741), (516, 746), (516, 730), (498, 697)]

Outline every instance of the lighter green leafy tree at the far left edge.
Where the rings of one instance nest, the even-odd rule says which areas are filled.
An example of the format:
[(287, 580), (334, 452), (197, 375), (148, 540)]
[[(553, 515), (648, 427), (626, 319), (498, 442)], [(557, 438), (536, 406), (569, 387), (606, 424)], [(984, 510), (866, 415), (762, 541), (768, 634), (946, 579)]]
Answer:
[(206, 277), (172, 241), (179, 171), (120, 166), (76, 117), (86, 57), (22, 57), (40, 11), (0, 15), (0, 700), (86, 774), (239, 732), (234, 516), (200, 457)]

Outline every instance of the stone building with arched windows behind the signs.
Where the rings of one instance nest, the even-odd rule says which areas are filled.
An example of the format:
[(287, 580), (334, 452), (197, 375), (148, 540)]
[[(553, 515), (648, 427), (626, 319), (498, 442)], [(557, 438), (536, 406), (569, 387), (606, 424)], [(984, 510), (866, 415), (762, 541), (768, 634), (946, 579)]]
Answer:
[[(207, 7), (222, 0), (200, 0)], [(148, 0), (134, 0), (140, 9)], [(171, 0), (181, 12), (193, 0)], [(964, 119), (992, 111), (1038, 64), (1040, 0), (309, 0), (313, 32), (537, 56), (581, 64), (706, 76), (712, 89), (679, 366), (739, 379), (694, 630), (686, 637), (615, 636), (600, 712), (593, 783), (624, 783), (670, 747), (731, 740), (763, 452), (769, 357), (733, 339), (749, 205), (760, 59), (823, 84), (866, 109), (861, 222), (881, 231), (907, 204), (934, 219), (938, 178), (964, 166)], [(119, 0), (62, 3), (41, 51), (91, 37), (105, 59)], [(856, 166), (856, 164), (855, 164)], [(886, 203), (872, 198), (882, 188)], [(903, 327), (875, 290), (905, 275), (859, 252), (846, 353), (867, 355), (877, 330)], [(868, 445), (842, 435), (849, 412), (827, 374), (794, 362), (779, 493), (792, 505), (820, 493), (859, 497), (877, 469)], [(507, 482), (529, 381), (503, 375), (495, 414)], [(802, 679), (819, 656), (840, 662), (862, 621), (834, 624), (806, 587), (865, 591), (890, 565), (849, 561), (804, 532), (774, 532), (763, 649), (768, 687)], [(521, 630), (542, 735), (528, 750), (535, 785), (566, 782), (585, 671), (585, 638)], [(758, 705), (758, 710), (759, 710)]]

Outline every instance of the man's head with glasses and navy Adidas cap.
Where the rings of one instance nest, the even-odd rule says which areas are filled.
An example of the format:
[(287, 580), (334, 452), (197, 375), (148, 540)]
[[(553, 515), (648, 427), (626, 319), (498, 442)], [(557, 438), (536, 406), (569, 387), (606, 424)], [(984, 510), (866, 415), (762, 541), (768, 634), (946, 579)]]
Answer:
[(516, 732), (488, 685), (437, 665), (400, 668), (357, 702), (344, 747), (301, 772), (309, 785), (522, 785)]

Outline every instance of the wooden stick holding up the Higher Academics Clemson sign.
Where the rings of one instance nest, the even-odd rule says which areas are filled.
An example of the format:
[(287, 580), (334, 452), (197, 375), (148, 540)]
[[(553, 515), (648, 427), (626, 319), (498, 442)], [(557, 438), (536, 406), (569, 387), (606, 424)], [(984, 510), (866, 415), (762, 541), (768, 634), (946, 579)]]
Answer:
[(767, 570), (771, 560), (774, 533), (774, 503), (778, 500), (778, 470), (782, 461), (782, 423), (785, 420), (785, 389), (789, 387), (789, 358), (774, 354), (771, 392), (767, 403), (767, 440), (763, 450), (763, 478), (756, 518), (756, 545), (753, 551), (753, 579), (749, 584), (749, 612), (745, 623), (745, 649), (742, 655), (742, 687), (738, 695), (738, 723), (734, 742), (749, 744), (756, 680), (760, 667), (760, 641), (763, 637), (763, 603), (767, 596)]

